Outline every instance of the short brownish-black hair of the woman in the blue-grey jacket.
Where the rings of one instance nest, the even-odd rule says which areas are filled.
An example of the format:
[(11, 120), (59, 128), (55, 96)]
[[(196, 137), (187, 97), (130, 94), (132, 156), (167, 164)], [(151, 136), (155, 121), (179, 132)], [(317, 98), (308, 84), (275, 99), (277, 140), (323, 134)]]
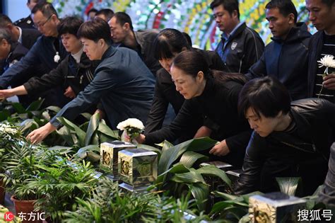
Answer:
[(81, 27), (77, 33), (78, 38), (86, 38), (98, 42), (103, 39), (107, 45), (112, 45), (112, 39), (110, 38), (110, 25), (101, 18), (95, 18), (93, 21), (86, 21), (81, 24)]

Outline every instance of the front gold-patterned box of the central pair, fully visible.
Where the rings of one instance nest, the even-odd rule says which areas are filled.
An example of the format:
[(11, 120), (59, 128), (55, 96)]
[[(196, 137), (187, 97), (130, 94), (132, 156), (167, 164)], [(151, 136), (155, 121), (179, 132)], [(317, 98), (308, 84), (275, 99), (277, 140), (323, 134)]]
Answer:
[(151, 185), (157, 179), (157, 166), (158, 156), (153, 151), (141, 148), (119, 151), (119, 178), (129, 188)]

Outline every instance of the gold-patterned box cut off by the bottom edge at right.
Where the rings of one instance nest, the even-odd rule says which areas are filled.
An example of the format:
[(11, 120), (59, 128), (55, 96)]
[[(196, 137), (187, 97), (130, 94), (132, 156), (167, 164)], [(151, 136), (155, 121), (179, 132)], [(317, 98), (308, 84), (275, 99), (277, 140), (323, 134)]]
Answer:
[(298, 212), (305, 205), (306, 200), (279, 192), (253, 195), (249, 198), (250, 222), (298, 222)]

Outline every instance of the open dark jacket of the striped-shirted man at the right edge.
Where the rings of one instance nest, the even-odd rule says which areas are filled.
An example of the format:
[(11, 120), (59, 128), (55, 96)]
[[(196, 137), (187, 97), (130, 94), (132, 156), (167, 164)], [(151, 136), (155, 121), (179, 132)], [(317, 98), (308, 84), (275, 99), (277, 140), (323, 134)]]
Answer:
[[(317, 58), (321, 54), (322, 47), (324, 45), (324, 31), (318, 31), (310, 38), (310, 55), (308, 60), (308, 84), (307, 84), (307, 96), (309, 98), (314, 97), (315, 88), (315, 77), (317, 76)], [(335, 55), (335, 52), (333, 53)], [(335, 93), (332, 100), (335, 103)]]

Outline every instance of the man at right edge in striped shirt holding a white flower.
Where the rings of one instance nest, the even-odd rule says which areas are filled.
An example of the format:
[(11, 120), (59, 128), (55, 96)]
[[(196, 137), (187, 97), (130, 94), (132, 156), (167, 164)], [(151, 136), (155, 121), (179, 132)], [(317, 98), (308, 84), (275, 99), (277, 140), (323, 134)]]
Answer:
[(329, 75), (324, 76), (326, 67), (318, 66), (325, 55), (335, 57), (335, 1), (306, 0), (306, 8), (318, 30), (310, 39), (307, 94), (335, 103), (335, 68), (330, 68)]

